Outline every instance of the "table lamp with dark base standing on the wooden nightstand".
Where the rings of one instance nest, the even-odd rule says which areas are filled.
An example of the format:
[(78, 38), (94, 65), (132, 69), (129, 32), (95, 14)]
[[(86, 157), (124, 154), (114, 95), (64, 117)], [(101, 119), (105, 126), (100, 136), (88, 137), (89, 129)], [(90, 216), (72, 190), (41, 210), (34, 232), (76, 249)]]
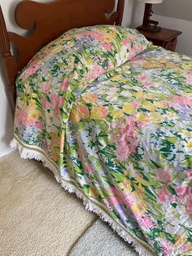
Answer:
[(137, 29), (152, 32), (152, 33), (160, 31), (160, 27), (157, 26), (159, 22), (155, 20), (151, 20), (150, 17), (153, 13), (152, 3), (161, 3), (163, 2), (163, 0), (137, 0), (137, 1), (146, 3), (142, 26), (139, 26)]

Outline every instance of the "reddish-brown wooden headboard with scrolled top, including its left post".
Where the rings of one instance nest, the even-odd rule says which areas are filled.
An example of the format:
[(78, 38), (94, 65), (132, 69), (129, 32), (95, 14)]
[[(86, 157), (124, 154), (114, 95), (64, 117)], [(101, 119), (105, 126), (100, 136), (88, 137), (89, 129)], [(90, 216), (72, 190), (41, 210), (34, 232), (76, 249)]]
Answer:
[[(15, 8), (15, 21), (31, 34), (22, 37), (7, 32), (0, 7), (0, 53), (7, 75), (7, 89), (11, 95), (11, 108), (15, 108), (17, 73), (24, 68), (48, 42), (51, 42), (69, 29), (95, 24), (120, 25), (124, 11), (124, 0), (53, 0), (52, 2), (21, 1)], [(11, 53), (11, 44), (18, 52), (16, 58)]]

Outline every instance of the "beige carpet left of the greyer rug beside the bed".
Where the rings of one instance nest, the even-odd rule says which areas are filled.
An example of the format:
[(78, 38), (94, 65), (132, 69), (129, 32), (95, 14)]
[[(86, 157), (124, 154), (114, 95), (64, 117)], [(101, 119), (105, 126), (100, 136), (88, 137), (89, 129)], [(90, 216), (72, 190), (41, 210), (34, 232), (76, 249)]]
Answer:
[(0, 158), (0, 255), (68, 255), (96, 219), (40, 162)]

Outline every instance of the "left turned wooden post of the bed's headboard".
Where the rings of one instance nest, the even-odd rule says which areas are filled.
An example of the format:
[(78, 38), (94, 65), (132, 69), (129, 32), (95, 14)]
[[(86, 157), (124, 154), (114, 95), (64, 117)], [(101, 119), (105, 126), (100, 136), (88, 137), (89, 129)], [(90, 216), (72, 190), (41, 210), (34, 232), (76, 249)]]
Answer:
[(15, 68), (16, 63), (13, 55), (11, 54), (11, 46), (9, 35), (7, 32), (5, 20), (2, 14), (2, 7), (0, 5), (0, 55), (2, 57), (3, 72), (5, 71), (5, 78), (7, 81), (7, 89), (9, 92), (9, 99), (11, 100), (11, 110), (15, 111)]

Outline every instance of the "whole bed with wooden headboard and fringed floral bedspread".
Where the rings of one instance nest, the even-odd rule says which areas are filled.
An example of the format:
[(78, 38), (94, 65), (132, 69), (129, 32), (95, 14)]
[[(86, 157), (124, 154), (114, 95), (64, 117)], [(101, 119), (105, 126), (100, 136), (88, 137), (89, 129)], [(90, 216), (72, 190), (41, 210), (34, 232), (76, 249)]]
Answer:
[(42, 161), (138, 254), (191, 255), (192, 58), (121, 27), (123, 9), (25, 0), (15, 19), (26, 37), (7, 33), (1, 11), (11, 147)]

